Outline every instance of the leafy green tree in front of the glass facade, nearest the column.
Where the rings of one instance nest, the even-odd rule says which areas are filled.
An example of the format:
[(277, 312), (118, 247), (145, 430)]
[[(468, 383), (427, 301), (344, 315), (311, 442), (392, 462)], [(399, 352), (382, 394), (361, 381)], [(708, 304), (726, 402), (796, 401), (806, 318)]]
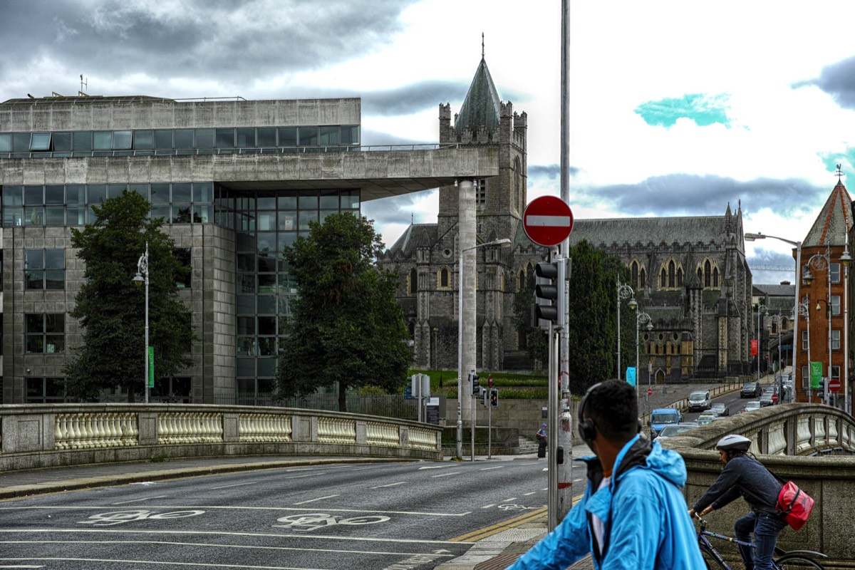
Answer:
[(397, 276), (375, 261), (382, 249), (373, 221), (353, 214), (310, 222), (310, 234), (286, 247), (298, 297), (285, 326), (278, 399), (338, 382), (339, 410), (346, 411), (348, 388), (394, 391), (404, 385), (409, 335), (394, 297)]

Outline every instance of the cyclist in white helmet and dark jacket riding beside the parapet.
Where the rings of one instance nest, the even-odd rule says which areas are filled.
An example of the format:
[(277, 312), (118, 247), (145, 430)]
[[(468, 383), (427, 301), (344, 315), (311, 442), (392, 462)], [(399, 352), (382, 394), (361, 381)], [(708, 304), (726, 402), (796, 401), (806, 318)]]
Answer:
[(772, 570), (778, 534), (787, 526), (775, 509), (781, 484), (760, 461), (746, 455), (749, 447), (751, 440), (737, 434), (726, 435), (718, 441), (716, 450), (724, 465), (722, 474), (694, 508), (689, 509), (689, 514), (703, 516), (741, 495), (752, 510), (734, 524), (736, 538), (751, 542), (753, 532), (756, 547), (752, 559), (751, 548), (740, 544), (742, 560), (747, 570)]

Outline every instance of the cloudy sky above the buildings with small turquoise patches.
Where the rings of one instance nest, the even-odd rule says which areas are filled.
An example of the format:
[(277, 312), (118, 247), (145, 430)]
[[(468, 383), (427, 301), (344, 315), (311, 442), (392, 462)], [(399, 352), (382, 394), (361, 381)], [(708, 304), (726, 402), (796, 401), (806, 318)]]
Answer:
[[(848, 0), (570, 1), (576, 218), (718, 215), (805, 237), (855, 173)], [(528, 113), (528, 197), (559, 192), (560, 0), (0, 0), (0, 101), (142, 94), (362, 97), (363, 144), (433, 143), (481, 60)], [(437, 194), (366, 203), (391, 245)], [(786, 244), (746, 244), (755, 282)]]

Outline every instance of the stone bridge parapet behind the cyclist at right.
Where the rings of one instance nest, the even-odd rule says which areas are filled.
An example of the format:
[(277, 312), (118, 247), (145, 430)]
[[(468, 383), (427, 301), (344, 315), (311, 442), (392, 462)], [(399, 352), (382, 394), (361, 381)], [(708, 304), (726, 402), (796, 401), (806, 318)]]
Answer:
[[(716, 420), (663, 441), (687, 467), (687, 502), (693, 505), (722, 471), (716, 443), (728, 433), (752, 440), (751, 452), (779, 478), (792, 480), (816, 500), (807, 525), (781, 532), (784, 549), (811, 549), (829, 556), (827, 568), (855, 568), (851, 521), (855, 520), (855, 418), (819, 404), (791, 403)], [(737, 499), (706, 519), (728, 533), (748, 505)], [(716, 544), (716, 548), (719, 547)], [(727, 546), (722, 548), (725, 551)], [(734, 560), (738, 556), (734, 550)]]

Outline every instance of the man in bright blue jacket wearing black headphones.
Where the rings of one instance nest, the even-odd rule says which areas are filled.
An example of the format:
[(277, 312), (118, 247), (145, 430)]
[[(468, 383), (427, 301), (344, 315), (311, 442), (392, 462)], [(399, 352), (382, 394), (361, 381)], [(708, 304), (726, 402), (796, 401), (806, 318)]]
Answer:
[(599, 570), (705, 568), (681, 487), (686, 464), (675, 451), (640, 438), (635, 389), (621, 380), (595, 384), (582, 397), (579, 435), (584, 497), (509, 570), (569, 567), (591, 553)]

